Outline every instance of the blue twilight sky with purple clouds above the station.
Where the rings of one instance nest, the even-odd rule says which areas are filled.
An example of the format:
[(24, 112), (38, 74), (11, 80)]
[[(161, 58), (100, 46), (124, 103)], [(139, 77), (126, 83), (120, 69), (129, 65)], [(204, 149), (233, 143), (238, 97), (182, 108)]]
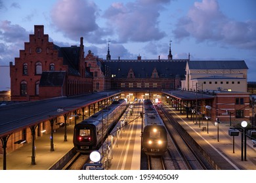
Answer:
[(34, 25), (58, 46), (106, 59), (243, 59), (256, 81), (255, 0), (0, 0), (0, 65), (19, 57)]

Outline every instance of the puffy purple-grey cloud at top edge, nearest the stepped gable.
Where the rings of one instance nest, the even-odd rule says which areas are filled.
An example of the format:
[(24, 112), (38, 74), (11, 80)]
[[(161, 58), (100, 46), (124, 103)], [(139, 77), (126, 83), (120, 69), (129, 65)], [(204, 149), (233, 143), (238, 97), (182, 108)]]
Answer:
[(59, 0), (51, 11), (51, 20), (57, 31), (77, 41), (82, 36), (85, 39), (95, 37), (95, 32), (99, 32), (97, 14), (98, 8), (93, 1)]

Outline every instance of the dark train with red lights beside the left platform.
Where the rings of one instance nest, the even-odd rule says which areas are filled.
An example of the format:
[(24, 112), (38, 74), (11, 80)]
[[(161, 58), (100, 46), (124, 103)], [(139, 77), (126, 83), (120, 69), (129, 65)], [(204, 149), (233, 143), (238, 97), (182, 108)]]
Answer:
[(116, 124), (126, 109), (126, 101), (114, 101), (74, 127), (74, 148), (77, 152), (89, 153), (96, 150), (108, 131)]

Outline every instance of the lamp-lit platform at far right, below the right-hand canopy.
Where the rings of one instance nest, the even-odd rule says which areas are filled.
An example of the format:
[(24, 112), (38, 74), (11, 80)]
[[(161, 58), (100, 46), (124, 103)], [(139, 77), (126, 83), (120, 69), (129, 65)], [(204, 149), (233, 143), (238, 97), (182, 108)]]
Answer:
[(190, 116), (186, 118), (186, 114), (181, 114), (175, 108), (171, 108), (169, 105), (165, 105), (165, 107), (168, 108), (168, 112), (173, 115), (175, 120), (194, 139), (193, 141), (196, 141), (203, 148), (203, 151), (208, 154), (207, 156), (219, 164), (216, 169), (221, 167), (221, 169), (226, 170), (256, 170), (256, 147), (253, 147), (253, 141), (247, 138), (246, 152), (243, 150), (242, 156), (240, 133), (239, 136), (234, 137), (233, 151), (233, 137), (228, 135), (229, 123), (223, 122), (219, 124), (218, 138), (218, 128), (214, 122), (208, 121), (209, 129), (207, 133), (207, 120), (201, 120), (199, 124), (199, 121), (191, 120)]

